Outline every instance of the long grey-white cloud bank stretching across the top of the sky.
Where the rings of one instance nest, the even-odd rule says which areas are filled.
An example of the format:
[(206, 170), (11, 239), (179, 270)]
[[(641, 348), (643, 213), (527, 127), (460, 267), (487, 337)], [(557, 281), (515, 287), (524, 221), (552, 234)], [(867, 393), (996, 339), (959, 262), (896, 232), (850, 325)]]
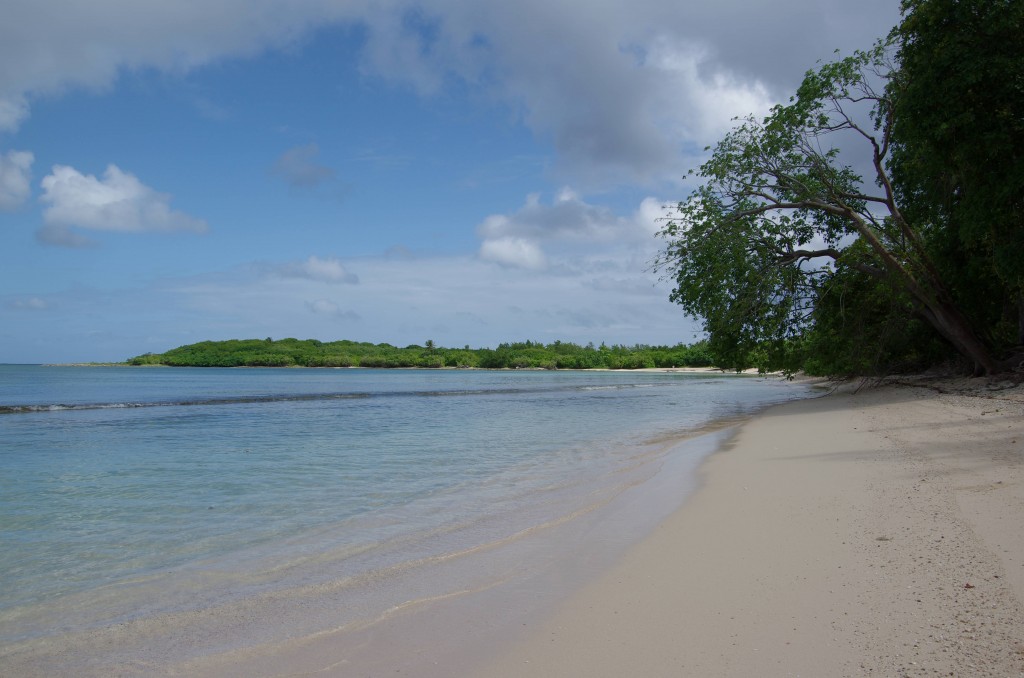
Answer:
[[(815, 60), (870, 45), (898, 18), (892, 0), (17, 2), (0, 23), (0, 130), (17, 127), (33, 95), (359, 25), (367, 74), (425, 95), (470, 87), (551, 141), (562, 180), (656, 182), (678, 177), (681, 155), (698, 154), (731, 117), (784, 98)], [(295, 151), (297, 171), (283, 173), (323, 180), (327, 168)]]

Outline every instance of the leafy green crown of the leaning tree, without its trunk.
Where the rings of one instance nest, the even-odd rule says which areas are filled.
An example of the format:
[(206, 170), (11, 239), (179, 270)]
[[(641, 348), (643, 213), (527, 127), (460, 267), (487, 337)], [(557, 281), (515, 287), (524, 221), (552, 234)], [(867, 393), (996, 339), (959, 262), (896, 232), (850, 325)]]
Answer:
[(840, 259), (858, 227), (876, 240), (891, 230), (868, 209), (860, 177), (821, 142), (854, 131), (855, 114), (884, 117), (886, 102), (864, 72), (885, 58), (879, 45), (826, 65), (807, 74), (790, 105), (739, 121), (697, 172), (703, 184), (660, 232), (668, 245), (658, 267), (676, 283), (670, 298), (703, 321), (723, 367), (784, 363), (813, 324), (833, 270), (821, 262)]

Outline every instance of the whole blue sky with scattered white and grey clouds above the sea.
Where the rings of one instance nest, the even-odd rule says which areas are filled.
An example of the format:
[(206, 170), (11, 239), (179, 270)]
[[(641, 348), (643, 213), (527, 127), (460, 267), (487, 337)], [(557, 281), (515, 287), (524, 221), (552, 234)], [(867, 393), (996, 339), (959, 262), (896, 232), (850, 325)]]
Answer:
[(732, 119), (897, 0), (5, 0), (0, 363), (691, 343), (652, 269)]

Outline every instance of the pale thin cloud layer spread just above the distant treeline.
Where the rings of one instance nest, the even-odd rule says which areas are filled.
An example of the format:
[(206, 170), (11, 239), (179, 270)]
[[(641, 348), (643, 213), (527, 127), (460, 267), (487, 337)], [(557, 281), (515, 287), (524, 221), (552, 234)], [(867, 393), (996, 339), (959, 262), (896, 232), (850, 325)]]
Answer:
[(161, 298), (166, 312), (204, 319), (194, 321), (204, 328), (196, 340), (269, 335), (404, 345), (429, 336), (441, 345), (494, 346), (516, 338), (675, 343), (696, 333), (656, 276), (629, 257), (567, 262), (553, 255), (546, 268), (525, 269), (471, 256), (360, 258), (359, 279), (340, 299), (316, 281), (240, 269), (181, 281)]

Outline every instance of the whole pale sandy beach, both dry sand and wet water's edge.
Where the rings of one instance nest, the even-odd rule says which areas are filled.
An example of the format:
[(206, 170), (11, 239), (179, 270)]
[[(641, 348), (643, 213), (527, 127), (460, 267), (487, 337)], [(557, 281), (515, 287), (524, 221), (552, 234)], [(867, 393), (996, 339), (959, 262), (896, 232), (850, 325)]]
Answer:
[[(117, 659), (131, 649), (112, 628), (0, 674), (1024, 675), (1024, 388), (858, 386), (740, 425), (681, 506), (599, 568), (578, 558), (511, 597), (467, 589), (270, 643), (247, 629), (272, 627), (273, 605), (237, 605), (170, 644), (162, 622), (132, 631), (166, 656)], [(311, 612), (330, 604), (307, 593)], [(225, 619), (255, 644), (175, 659)]]

